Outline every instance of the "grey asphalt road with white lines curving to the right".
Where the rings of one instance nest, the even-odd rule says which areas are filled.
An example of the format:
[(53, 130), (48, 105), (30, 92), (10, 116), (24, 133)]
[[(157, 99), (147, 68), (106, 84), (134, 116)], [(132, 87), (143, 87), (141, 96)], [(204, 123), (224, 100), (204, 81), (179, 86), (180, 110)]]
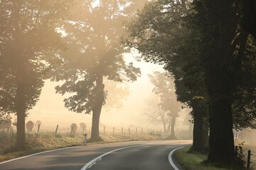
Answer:
[(1, 170), (165, 170), (186, 140), (132, 141), (57, 149), (0, 163)]

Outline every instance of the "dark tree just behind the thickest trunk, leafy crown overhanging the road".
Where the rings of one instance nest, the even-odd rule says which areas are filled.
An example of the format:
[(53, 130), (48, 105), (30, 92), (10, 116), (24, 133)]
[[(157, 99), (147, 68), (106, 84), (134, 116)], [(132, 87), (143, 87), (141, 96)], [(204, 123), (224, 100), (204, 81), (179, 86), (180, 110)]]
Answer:
[[(174, 76), (178, 101), (193, 108), (193, 147), (201, 152), (207, 145), (207, 95), (199, 60), (201, 37), (189, 29), (189, 1), (151, 1), (130, 23), (128, 45), (147, 62), (164, 64)], [(203, 98), (200, 102), (197, 98)], [(194, 109), (195, 108), (195, 109)]]

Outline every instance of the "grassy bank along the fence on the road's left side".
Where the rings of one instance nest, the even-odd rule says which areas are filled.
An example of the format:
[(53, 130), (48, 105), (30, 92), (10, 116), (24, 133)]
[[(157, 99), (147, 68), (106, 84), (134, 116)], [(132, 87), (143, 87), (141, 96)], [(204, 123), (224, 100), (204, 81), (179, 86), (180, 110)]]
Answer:
[[(100, 135), (102, 142), (88, 142), (87, 145), (109, 143), (109, 142), (126, 142), (134, 140), (163, 140), (164, 137), (156, 134), (133, 133), (117, 135)], [(63, 147), (75, 147), (84, 145), (84, 135), (78, 134), (70, 137), (68, 133), (58, 133), (56, 136), (51, 132), (40, 132), (38, 134), (26, 133), (26, 149), (17, 150), (15, 147), (16, 134), (0, 132), (0, 162), (17, 157), (23, 157), (28, 154), (35, 154), (51, 149)]]

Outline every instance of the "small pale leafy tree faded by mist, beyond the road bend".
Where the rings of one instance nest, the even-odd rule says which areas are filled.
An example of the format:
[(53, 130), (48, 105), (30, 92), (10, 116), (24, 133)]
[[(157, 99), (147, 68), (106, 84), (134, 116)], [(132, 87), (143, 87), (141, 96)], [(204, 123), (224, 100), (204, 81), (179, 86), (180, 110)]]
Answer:
[(170, 139), (174, 140), (176, 139), (174, 127), (178, 112), (181, 111), (181, 103), (176, 100), (174, 80), (170, 76), (167, 73), (154, 72), (152, 75), (149, 74), (149, 79), (154, 84), (153, 92), (160, 98), (159, 106), (161, 110), (169, 112), (168, 115), (171, 117), (169, 123), (171, 125)]

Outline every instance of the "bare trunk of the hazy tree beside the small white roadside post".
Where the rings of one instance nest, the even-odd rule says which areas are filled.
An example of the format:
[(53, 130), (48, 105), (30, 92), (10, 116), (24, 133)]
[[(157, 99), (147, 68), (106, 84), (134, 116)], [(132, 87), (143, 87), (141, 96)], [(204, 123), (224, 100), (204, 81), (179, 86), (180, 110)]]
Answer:
[(100, 123), (100, 113), (102, 111), (102, 105), (104, 101), (104, 87), (103, 76), (100, 75), (97, 77), (96, 81), (96, 97), (95, 105), (92, 108), (92, 135), (91, 141), (98, 142), (101, 141), (99, 123)]

